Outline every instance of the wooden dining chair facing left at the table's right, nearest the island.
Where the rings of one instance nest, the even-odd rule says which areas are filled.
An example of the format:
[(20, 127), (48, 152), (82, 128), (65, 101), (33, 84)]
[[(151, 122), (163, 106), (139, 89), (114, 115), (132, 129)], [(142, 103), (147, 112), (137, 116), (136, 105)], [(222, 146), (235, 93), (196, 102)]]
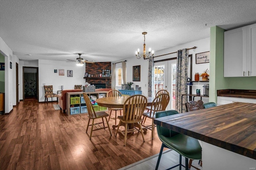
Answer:
[(142, 124), (143, 127), (146, 127), (147, 129), (152, 131), (151, 132), (152, 139), (154, 139), (154, 128), (156, 127), (156, 125), (154, 124), (154, 119), (156, 118), (155, 113), (157, 111), (164, 111), (168, 106), (169, 101), (170, 101), (169, 93), (159, 94), (154, 98), (150, 106), (150, 111), (142, 114), (144, 116), (143, 119), (146, 119), (147, 117), (152, 119), (151, 125), (144, 125), (145, 123)]

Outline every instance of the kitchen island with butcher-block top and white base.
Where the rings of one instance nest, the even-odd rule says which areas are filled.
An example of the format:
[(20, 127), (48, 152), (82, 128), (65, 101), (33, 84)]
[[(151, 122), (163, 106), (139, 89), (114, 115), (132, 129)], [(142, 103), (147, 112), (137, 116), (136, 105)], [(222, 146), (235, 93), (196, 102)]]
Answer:
[(202, 144), (203, 170), (256, 168), (256, 104), (235, 102), (154, 119)]

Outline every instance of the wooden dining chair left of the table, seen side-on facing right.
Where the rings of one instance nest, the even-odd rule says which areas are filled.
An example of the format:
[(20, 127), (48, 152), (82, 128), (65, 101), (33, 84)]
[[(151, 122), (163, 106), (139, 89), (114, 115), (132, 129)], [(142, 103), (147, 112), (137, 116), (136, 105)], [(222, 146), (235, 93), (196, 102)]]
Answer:
[[(100, 130), (100, 129), (105, 129), (105, 124), (104, 124), (104, 117), (106, 119), (106, 122), (107, 122), (107, 125), (108, 125), (108, 130), (109, 130), (109, 133), (110, 135), (112, 136), (112, 133), (110, 131), (110, 127), (109, 127), (109, 124), (108, 124), (108, 120), (107, 120), (107, 117), (108, 117), (108, 113), (106, 113), (105, 111), (98, 111), (98, 112), (95, 112), (94, 111), (94, 108), (92, 107), (92, 102), (90, 100), (90, 98), (88, 97), (88, 95), (86, 93), (83, 93), (83, 97), (84, 97), (84, 100), (85, 100), (85, 103), (86, 103), (86, 106), (87, 106), (87, 111), (88, 111), (88, 124), (87, 124), (87, 127), (86, 127), (86, 133), (88, 131), (88, 127), (89, 126), (92, 126), (91, 127), (91, 132), (90, 132), (90, 139), (92, 137), (92, 131), (96, 131), (96, 130)], [(100, 123), (94, 123), (94, 119), (102, 119), (102, 122)], [(92, 124), (90, 125), (90, 120), (92, 119)], [(100, 126), (100, 124), (103, 124), (103, 127)], [(93, 127), (97, 127), (97, 129), (93, 129)]]

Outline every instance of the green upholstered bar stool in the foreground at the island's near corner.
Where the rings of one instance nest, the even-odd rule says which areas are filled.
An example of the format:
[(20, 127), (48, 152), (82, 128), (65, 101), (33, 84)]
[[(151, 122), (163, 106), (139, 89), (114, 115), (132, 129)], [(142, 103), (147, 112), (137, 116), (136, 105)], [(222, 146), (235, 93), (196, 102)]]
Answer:
[[(165, 116), (174, 115), (174, 114), (178, 114), (178, 111), (176, 110), (159, 111), (156, 113), (156, 118), (165, 117)], [(192, 160), (202, 159), (202, 148), (197, 139), (172, 131), (160, 125), (157, 125), (156, 129), (157, 129), (158, 137), (162, 141), (162, 147), (160, 149), (160, 153), (158, 156), (156, 170), (158, 169), (164, 147), (175, 150), (180, 154), (179, 164), (172, 166), (171, 168), (168, 168), (168, 169), (175, 168), (176, 166), (180, 166), (180, 169), (181, 169), (181, 166), (183, 166), (186, 168), (186, 170), (188, 170), (188, 159), (192, 159)], [(181, 163), (182, 156), (185, 157), (185, 166), (182, 165)]]

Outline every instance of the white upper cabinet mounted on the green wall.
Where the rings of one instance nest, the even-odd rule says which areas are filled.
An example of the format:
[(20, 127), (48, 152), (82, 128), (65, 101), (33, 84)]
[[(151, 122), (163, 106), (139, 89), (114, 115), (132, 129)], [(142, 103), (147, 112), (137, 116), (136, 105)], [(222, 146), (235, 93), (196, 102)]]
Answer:
[(224, 77), (256, 76), (256, 24), (224, 32)]

